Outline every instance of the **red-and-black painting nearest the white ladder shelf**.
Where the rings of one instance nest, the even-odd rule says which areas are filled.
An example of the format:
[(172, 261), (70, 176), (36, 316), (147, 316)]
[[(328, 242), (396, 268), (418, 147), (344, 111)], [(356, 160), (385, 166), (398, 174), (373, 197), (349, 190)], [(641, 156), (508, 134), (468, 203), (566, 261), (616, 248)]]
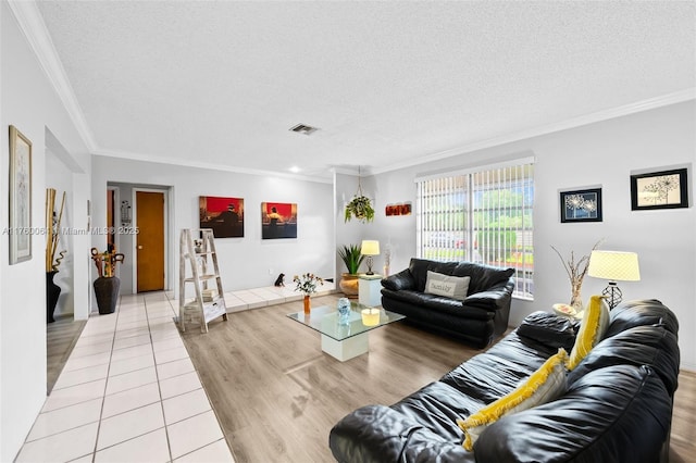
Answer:
[(198, 198), (200, 227), (211, 228), (215, 238), (244, 237), (244, 199), (216, 196)]

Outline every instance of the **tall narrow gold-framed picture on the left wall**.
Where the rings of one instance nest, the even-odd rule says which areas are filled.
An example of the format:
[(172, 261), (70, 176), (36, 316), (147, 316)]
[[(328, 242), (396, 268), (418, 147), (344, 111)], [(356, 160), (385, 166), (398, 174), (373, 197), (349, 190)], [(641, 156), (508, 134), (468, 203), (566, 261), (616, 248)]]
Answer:
[(32, 141), (10, 126), (10, 265), (32, 259)]

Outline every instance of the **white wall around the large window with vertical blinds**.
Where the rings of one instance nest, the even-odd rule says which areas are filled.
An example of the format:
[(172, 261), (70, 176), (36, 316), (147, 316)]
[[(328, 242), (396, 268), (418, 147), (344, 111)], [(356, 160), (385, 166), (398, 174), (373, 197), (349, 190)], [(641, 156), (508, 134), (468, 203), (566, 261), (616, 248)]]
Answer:
[[(415, 200), (419, 174), (446, 172), (521, 153), (536, 158), (534, 209), (535, 300), (514, 300), (511, 325), (535, 310), (549, 310), (570, 299), (570, 284), (550, 246), (564, 253), (588, 253), (605, 238), (601, 249), (635, 251), (642, 280), (622, 283), (624, 299), (661, 300), (680, 321), (682, 366), (696, 370), (696, 218), (688, 209), (631, 211), (630, 175), (635, 171), (689, 166), (693, 197), (696, 162), (694, 101), (605, 121), (461, 154), (438, 162), (375, 176), (377, 217), (372, 224), (381, 241), (397, 243), (393, 273), (406, 268), (415, 255), (415, 216), (386, 217), (384, 205)], [(558, 193), (562, 189), (602, 187), (604, 222), (560, 223)], [(585, 302), (601, 292), (606, 281), (586, 277)]]

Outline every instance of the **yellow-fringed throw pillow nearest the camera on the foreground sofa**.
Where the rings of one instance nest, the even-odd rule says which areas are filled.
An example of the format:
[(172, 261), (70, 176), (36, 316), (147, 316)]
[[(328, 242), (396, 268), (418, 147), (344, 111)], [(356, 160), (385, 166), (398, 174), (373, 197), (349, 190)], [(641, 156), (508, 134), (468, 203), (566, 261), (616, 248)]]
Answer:
[(539, 368), (512, 392), (478, 410), (467, 420), (457, 420), (464, 431), (464, 449), (472, 451), (484, 429), (505, 415), (550, 402), (566, 391), (566, 361), (563, 348), (549, 356)]

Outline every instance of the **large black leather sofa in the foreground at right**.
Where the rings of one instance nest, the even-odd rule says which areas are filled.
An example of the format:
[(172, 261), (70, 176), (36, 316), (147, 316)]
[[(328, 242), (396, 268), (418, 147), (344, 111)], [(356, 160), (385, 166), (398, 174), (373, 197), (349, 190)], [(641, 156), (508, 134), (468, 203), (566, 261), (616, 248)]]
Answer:
[[(680, 352), (674, 314), (659, 301), (611, 311), (604, 338), (568, 373), (556, 400), (489, 425), (473, 451), (456, 420), (510, 392), (559, 347), (573, 323), (536, 312), (481, 353), (391, 406), (368, 405), (334, 426), (341, 463), (667, 461)], [(585, 323), (583, 321), (583, 323)]]

